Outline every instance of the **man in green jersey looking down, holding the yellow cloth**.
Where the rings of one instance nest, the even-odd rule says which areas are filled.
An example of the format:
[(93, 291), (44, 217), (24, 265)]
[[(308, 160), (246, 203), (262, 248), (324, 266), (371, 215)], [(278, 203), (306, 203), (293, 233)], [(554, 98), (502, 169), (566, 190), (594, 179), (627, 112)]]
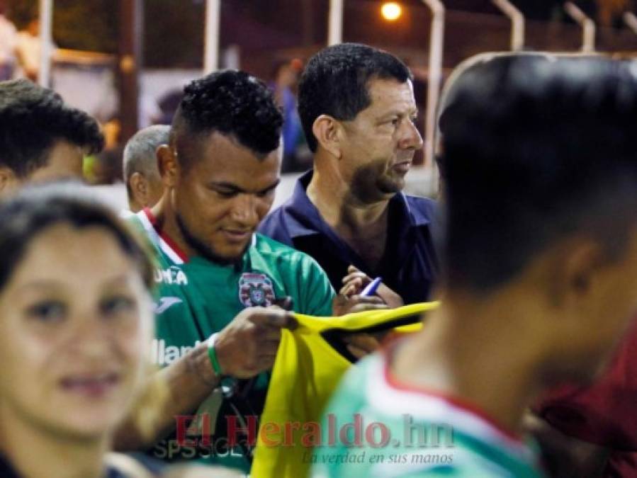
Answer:
[(152, 358), (171, 399), (152, 440), (125, 426), (117, 446), (249, 470), (268, 371), (292, 324), (272, 306), (287, 300), (295, 312), (331, 316), (383, 305), (334, 300), (314, 259), (255, 233), (281, 165), (282, 118), (266, 86), (227, 70), (184, 93), (157, 152), (164, 195), (130, 217), (157, 256)]

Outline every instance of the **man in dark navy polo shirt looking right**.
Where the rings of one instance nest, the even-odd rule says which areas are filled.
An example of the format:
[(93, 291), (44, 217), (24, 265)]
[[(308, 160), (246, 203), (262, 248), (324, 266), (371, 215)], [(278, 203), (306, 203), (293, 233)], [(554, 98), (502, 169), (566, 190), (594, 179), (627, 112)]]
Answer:
[(261, 232), (310, 254), (337, 290), (382, 276), (405, 303), (424, 302), (437, 271), (434, 202), (401, 193), (422, 147), (411, 72), (388, 52), (343, 43), (310, 59), (298, 96), (314, 169)]

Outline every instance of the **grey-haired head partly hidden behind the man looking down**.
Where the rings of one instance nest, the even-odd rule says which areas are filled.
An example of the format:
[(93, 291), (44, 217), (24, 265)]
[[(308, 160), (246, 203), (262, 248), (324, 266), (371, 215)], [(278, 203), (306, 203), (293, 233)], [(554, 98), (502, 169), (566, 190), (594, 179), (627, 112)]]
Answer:
[(124, 148), (124, 183), (128, 207), (139, 212), (157, 204), (162, 194), (162, 176), (157, 168), (157, 148), (168, 144), (170, 126), (153, 125), (138, 131)]

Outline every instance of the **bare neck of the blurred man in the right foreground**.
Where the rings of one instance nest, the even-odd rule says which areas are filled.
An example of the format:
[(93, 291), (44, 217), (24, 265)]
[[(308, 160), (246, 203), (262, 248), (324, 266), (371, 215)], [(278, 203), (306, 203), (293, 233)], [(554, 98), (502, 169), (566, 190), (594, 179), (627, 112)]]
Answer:
[(543, 339), (520, 326), (513, 304), (458, 307), (449, 305), (453, 297), (445, 300), (422, 333), (397, 349), (390, 370), (400, 382), (464, 399), (519, 432), (526, 406), (541, 389), (536, 344)]

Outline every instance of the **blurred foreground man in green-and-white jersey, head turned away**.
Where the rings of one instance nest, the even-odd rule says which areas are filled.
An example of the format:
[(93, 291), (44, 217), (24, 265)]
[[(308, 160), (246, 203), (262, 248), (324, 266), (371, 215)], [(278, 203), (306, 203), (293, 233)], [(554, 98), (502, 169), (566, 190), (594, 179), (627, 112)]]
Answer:
[(628, 67), (485, 59), (445, 106), (441, 307), (346, 375), (305, 456), (313, 477), (539, 477), (527, 404), (592, 380), (634, 317)]

